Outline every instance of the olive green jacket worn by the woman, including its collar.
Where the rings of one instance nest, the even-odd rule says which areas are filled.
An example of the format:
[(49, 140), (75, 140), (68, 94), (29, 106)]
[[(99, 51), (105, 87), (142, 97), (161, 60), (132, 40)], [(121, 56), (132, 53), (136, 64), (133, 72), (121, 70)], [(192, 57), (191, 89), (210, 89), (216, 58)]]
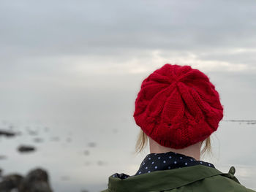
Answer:
[(102, 192), (255, 192), (241, 185), (232, 166), (228, 173), (202, 165), (161, 170), (127, 177), (109, 177)]

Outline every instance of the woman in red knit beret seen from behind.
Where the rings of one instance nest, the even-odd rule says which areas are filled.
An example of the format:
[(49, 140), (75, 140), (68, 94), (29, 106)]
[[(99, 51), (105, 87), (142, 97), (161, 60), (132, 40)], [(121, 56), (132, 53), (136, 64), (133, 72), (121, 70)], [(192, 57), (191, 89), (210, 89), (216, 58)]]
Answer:
[(200, 161), (223, 118), (219, 93), (203, 72), (171, 64), (157, 69), (143, 80), (133, 116), (141, 128), (137, 150), (149, 139), (150, 154), (135, 175), (111, 175), (105, 191), (252, 192), (233, 166), (222, 173)]

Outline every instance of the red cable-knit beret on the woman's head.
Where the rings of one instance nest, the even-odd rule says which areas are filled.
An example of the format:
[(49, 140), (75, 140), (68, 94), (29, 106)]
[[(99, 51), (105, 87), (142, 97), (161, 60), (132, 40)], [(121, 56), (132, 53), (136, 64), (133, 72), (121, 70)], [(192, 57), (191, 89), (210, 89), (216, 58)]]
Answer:
[(159, 145), (180, 149), (216, 131), (223, 107), (206, 74), (165, 64), (143, 80), (133, 116)]

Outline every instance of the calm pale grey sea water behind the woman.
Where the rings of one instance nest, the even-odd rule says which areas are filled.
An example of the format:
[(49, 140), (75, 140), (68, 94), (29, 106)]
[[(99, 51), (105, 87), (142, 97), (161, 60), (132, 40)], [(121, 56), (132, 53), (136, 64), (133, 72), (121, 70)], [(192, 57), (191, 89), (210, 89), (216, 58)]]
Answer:
[[(50, 174), (54, 191), (100, 191), (107, 188), (113, 173), (135, 174), (148, 148), (134, 154), (139, 131), (132, 118), (109, 120), (102, 118), (89, 125), (69, 121), (1, 121), (1, 129), (20, 132), (12, 138), (0, 137), (0, 169), (4, 174), (42, 167)], [(236, 167), (236, 177), (247, 188), (256, 190), (256, 124), (246, 122), (220, 123), (212, 136), (212, 155), (203, 160), (228, 172)], [(34, 153), (20, 154), (19, 145), (33, 145)]]

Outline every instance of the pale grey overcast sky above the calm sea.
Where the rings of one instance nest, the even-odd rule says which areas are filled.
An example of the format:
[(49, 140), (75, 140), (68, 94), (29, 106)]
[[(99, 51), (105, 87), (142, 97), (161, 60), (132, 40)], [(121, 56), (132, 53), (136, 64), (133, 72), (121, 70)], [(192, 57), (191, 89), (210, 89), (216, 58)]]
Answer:
[(226, 119), (256, 119), (256, 1), (0, 1), (2, 118), (132, 115), (142, 80), (191, 65)]

